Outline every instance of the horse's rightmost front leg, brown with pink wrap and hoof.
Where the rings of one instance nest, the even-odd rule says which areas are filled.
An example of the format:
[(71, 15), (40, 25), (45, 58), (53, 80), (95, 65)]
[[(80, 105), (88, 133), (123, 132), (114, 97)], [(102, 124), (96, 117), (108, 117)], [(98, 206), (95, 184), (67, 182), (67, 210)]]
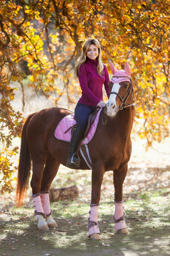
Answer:
[(115, 230), (120, 234), (128, 233), (127, 225), (125, 222), (124, 201), (123, 201), (123, 183), (128, 172), (128, 163), (121, 166), (118, 170), (113, 172), (114, 183), (114, 222)]

